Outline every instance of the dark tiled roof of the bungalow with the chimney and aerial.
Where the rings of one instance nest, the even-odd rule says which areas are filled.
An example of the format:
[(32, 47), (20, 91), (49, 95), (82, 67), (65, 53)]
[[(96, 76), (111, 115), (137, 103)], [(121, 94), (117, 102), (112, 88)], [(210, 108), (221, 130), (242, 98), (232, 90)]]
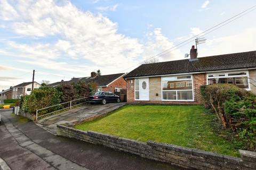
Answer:
[(124, 78), (256, 68), (256, 51), (142, 64)]

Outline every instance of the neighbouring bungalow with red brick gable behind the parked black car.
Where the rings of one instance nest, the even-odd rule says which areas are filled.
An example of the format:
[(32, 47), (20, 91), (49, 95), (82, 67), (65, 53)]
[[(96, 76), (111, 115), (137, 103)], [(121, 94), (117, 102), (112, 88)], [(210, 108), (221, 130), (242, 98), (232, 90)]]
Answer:
[(99, 91), (119, 92), (121, 89), (126, 89), (126, 81), (123, 79), (123, 76), (124, 73), (97, 75), (95, 72), (91, 72), (91, 77), (73, 78), (70, 81), (55, 82), (48, 84), (48, 86), (56, 87), (63, 83), (76, 83), (79, 81), (85, 81), (86, 83), (97, 83)]

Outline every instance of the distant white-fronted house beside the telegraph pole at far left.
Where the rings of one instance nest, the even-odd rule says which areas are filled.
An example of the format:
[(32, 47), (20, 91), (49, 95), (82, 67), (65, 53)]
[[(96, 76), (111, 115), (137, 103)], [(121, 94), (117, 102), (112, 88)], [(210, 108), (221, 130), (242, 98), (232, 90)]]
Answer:
[[(32, 84), (33, 82), (23, 82), (21, 84), (18, 84), (17, 86), (11, 87), (11, 93), (9, 97), (13, 99), (17, 99), (20, 96), (30, 95), (32, 91)], [(34, 82), (34, 89), (37, 89), (41, 87), (41, 85), (37, 82)], [(7, 97), (7, 98), (9, 98)]]

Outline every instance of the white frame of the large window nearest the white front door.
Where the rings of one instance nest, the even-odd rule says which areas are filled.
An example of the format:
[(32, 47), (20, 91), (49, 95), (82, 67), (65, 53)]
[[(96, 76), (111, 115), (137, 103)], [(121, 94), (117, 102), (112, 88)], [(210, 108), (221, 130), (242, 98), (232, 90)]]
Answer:
[[(186, 77), (186, 76), (190, 76), (190, 79), (177, 79), (177, 77)], [(186, 90), (163, 90), (163, 78), (166, 78), (166, 77), (176, 77), (175, 80), (191, 80), (191, 84), (192, 84), (192, 89), (186, 89)], [(175, 81), (173, 80), (173, 81)], [(163, 99), (163, 92), (164, 91), (176, 91), (176, 100), (169, 100), (169, 99)], [(178, 100), (178, 91), (192, 91), (192, 99), (190, 100)], [(193, 82), (193, 74), (187, 74), (187, 75), (174, 75), (174, 76), (162, 76), (161, 77), (161, 93), (162, 93), (162, 101), (195, 101), (195, 98), (194, 98), (194, 82)]]

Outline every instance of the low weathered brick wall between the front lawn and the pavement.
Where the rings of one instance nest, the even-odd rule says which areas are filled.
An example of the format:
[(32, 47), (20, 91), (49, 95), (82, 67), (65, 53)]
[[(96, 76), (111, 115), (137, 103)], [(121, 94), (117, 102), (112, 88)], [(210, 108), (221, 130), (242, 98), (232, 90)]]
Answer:
[(256, 152), (239, 150), (242, 157), (236, 158), (197, 149), (167, 145), (153, 141), (115, 137), (92, 131), (81, 131), (65, 125), (57, 125), (57, 134), (89, 143), (103, 145), (119, 151), (129, 152), (143, 158), (171, 163), (193, 169), (256, 169)]

